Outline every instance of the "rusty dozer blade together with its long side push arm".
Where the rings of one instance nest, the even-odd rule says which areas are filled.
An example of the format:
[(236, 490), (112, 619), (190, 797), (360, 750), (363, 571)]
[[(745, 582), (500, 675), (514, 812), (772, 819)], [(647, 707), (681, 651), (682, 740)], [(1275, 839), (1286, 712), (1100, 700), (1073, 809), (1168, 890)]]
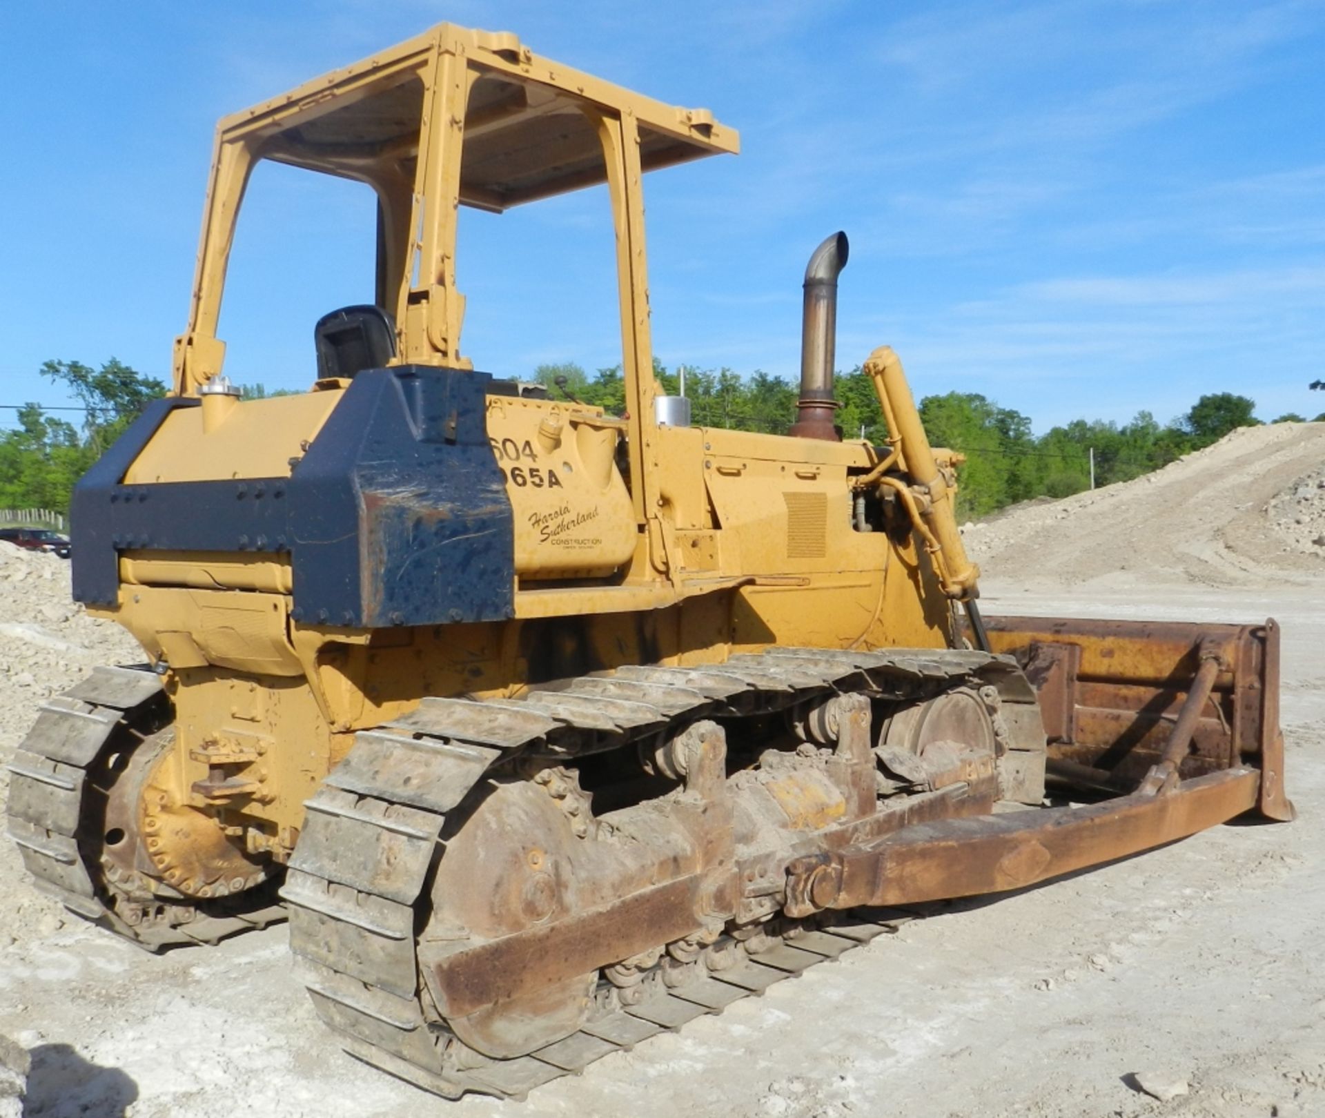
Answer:
[(788, 868), (786, 911), (1002, 893), (1248, 811), (1287, 821), (1279, 627), (999, 617), (1035, 685), (1052, 783), (1112, 799), (920, 824)]

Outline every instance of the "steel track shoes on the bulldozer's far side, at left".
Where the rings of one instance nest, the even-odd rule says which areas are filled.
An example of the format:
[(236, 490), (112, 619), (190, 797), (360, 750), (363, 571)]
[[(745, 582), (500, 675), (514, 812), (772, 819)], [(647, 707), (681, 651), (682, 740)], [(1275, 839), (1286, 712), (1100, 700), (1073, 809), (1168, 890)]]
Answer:
[[(164, 709), (160, 680), (147, 670), (95, 668), (91, 676), (41, 703), (37, 721), (9, 763), (9, 837), (37, 888), (66, 909), (150, 951), (215, 943), (284, 919), (280, 905), (245, 901), (192, 905), (180, 895), (155, 913), (121, 910), (99, 865), (103, 841), (95, 801), (98, 768), (131, 750)], [(148, 730), (150, 733), (150, 730)]]

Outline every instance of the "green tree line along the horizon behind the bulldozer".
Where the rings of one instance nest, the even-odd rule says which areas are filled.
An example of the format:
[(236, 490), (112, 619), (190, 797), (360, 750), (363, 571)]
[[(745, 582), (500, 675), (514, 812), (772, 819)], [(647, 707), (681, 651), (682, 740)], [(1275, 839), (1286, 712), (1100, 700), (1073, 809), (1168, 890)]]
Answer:
[[(795, 420), (798, 389), (780, 376), (761, 371), (741, 376), (729, 368), (668, 370), (657, 360), (653, 372), (672, 395), (680, 392), (684, 376), (696, 425), (784, 434)], [(53, 417), (37, 404), (20, 409), (17, 427), (0, 432), (0, 507), (65, 513), (74, 482), (148, 400), (166, 392), (166, 384), (114, 358), (99, 370), (50, 360), (41, 367), (41, 375), (80, 401), (83, 421)], [(574, 363), (543, 364), (534, 371), (534, 379), (553, 396), (600, 405), (615, 415), (625, 411), (620, 366), (588, 375)], [(843, 436), (881, 445), (888, 432), (871, 379), (859, 367), (839, 372), (835, 391)], [(254, 399), (284, 393), (256, 384), (244, 395)], [(1027, 416), (978, 392), (946, 392), (920, 401), (930, 441), (966, 454), (958, 472), (962, 517), (982, 517), (1035, 497), (1080, 493), (1090, 485), (1092, 450), (1096, 485), (1130, 481), (1208, 446), (1235, 428), (1260, 423), (1255, 407), (1247, 396), (1218, 392), (1202, 396), (1166, 424), (1142, 411), (1121, 425), (1080, 419), (1036, 436)], [(1316, 421), (1322, 420), (1325, 413), (1316, 416)], [(1289, 413), (1275, 420), (1287, 421), (1304, 417)]]

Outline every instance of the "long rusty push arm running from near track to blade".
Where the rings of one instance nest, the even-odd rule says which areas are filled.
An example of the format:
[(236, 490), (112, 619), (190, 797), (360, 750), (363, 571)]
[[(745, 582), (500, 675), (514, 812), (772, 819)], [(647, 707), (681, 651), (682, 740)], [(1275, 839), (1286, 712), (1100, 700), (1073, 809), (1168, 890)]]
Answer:
[(913, 827), (794, 866), (788, 894), (802, 899), (788, 903), (788, 914), (1023, 889), (1232, 819), (1256, 805), (1259, 787), (1253, 770), (1227, 770), (1183, 782), (1165, 795)]

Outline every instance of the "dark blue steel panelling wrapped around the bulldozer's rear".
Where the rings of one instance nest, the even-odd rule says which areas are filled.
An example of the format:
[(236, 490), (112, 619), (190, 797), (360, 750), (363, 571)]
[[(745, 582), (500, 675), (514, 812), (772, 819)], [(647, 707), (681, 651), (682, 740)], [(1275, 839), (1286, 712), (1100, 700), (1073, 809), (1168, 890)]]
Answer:
[[(74, 597), (110, 604), (121, 550), (282, 551), (297, 620), (378, 628), (514, 615), (514, 525), (485, 425), (486, 374), (360, 372), (289, 478), (119, 481), (155, 401), (74, 490)], [(162, 407), (158, 407), (162, 405)]]

